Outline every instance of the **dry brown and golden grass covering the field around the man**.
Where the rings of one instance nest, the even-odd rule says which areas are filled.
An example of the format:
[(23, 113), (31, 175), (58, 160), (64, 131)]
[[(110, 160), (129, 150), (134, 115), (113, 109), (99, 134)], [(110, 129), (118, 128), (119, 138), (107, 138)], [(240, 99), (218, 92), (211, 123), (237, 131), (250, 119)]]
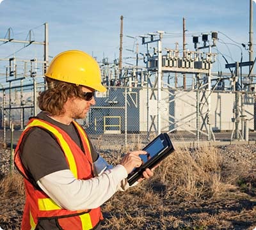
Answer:
[[(138, 136), (134, 135), (133, 143), (129, 150), (141, 148)], [(129, 151), (122, 147), (103, 151), (101, 145), (99, 142), (97, 148), (110, 164), (118, 164)], [(102, 229), (253, 229), (255, 173), (253, 162), (230, 160), (218, 148), (177, 148), (157, 167), (154, 178), (116, 193), (102, 206)], [(3, 178), (0, 190), (1, 204), (24, 197), (22, 179), (17, 174)], [(17, 214), (15, 208), (13, 215)], [(17, 221), (20, 218), (21, 213)], [(10, 210), (2, 211), (0, 226), (19, 229), (8, 228), (13, 226), (12, 221)]]

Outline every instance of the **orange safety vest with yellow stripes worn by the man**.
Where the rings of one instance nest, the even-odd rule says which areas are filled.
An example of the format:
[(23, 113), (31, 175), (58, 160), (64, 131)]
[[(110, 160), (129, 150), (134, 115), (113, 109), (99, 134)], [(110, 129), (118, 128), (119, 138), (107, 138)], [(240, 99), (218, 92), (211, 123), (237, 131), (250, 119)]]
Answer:
[[(51, 132), (56, 137), (58, 144), (60, 144), (65, 158), (70, 167), (70, 171), (74, 177), (81, 180), (88, 180), (93, 177), (92, 155), (88, 137), (83, 128), (74, 121), (81, 141), (83, 143), (84, 151), (77, 146), (77, 144), (69, 137), (69, 135), (51, 123), (42, 119), (33, 118), (29, 121), (27, 127), (22, 132), (17, 148), (15, 150), (15, 165), (24, 176), (25, 190), (26, 190), (26, 204), (24, 207), (24, 214), (22, 218), (22, 230), (35, 229), (36, 224), (40, 219), (56, 219), (58, 225), (62, 229), (93, 229), (97, 227), (100, 220), (102, 220), (102, 213), (100, 208), (92, 210), (78, 210), (70, 211), (61, 208), (56, 204), (47, 194), (42, 190), (37, 190), (31, 182), (29, 182), (26, 169), (20, 160), (20, 143), (24, 134), (28, 132), (31, 127), (40, 127)], [(72, 201), (70, 201), (72, 202)], [(61, 229), (61, 228), (60, 228)]]

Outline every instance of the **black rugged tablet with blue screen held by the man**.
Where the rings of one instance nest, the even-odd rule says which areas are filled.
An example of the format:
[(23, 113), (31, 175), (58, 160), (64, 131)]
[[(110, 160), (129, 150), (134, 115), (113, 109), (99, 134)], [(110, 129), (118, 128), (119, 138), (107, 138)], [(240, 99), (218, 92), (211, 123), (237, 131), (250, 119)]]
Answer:
[(174, 151), (174, 147), (169, 135), (163, 133), (159, 134), (153, 141), (145, 146), (143, 150), (147, 151), (148, 154), (140, 155), (143, 164), (128, 174), (127, 181), (129, 185), (138, 181), (143, 176), (142, 173), (145, 169), (152, 169), (152, 167), (170, 155)]

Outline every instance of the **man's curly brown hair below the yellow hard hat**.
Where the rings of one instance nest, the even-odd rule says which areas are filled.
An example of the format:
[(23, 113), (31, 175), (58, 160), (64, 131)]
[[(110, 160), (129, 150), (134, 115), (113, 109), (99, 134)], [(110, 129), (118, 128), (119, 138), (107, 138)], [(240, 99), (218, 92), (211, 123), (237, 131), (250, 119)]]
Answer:
[(76, 84), (58, 81), (45, 77), (48, 89), (40, 92), (38, 96), (38, 106), (42, 111), (49, 112), (53, 116), (61, 115), (65, 112), (64, 104), (68, 98), (83, 98), (81, 86)]

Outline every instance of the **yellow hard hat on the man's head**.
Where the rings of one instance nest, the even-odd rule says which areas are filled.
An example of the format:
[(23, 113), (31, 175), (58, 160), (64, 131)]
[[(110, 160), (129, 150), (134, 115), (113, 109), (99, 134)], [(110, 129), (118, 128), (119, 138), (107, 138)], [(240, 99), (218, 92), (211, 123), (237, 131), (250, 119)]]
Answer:
[(101, 84), (97, 61), (80, 50), (67, 50), (58, 54), (52, 59), (45, 76), (58, 81), (88, 86), (100, 92), (107, 90)]

